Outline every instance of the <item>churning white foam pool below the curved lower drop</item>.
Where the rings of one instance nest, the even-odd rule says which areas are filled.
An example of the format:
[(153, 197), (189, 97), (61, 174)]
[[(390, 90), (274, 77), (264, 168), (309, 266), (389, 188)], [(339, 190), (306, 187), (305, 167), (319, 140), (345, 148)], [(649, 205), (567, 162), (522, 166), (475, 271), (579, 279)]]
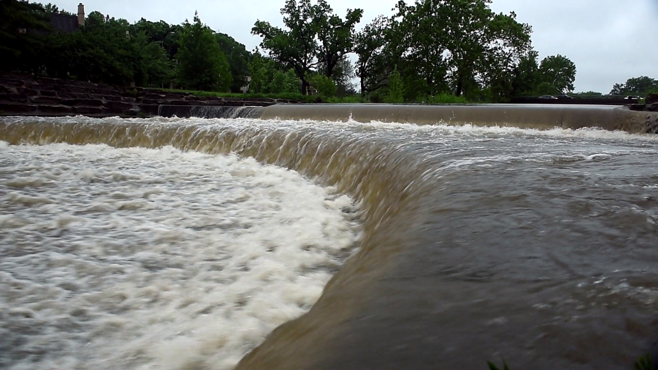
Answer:
[(0, 149), (2, 368), (230, 368), (357, 238), (351, 199), (253, 159)]

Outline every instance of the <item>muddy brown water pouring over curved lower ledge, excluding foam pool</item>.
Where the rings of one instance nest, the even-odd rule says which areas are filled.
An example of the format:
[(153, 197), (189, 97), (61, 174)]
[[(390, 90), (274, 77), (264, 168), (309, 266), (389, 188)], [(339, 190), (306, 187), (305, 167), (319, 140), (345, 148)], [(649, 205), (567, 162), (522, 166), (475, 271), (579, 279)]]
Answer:
[(238, 368), (628, 369), (658, 337), (655, 136), (5, 117), (0, 140), (236, 153), (355, 199), (360, 251)]

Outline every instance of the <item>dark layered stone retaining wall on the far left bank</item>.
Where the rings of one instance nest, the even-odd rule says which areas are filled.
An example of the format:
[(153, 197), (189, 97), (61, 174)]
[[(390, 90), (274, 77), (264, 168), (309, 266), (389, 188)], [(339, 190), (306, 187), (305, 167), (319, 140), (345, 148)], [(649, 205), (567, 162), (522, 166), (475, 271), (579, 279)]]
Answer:
[(0, 74), (0, 115), (150, 117), (160, 105), (266, 107), (286, 99), (197, 97), (143, 88), (118, 88), (57, 78)]

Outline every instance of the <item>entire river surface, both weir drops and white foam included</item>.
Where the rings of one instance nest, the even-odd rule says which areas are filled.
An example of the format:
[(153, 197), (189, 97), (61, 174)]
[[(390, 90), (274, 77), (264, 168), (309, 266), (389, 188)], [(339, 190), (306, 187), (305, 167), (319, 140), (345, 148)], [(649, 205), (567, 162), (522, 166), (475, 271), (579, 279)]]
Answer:
[(628, 369), (657, 353), (655, 113), (159, 113), (0, 117), (1, 368)]

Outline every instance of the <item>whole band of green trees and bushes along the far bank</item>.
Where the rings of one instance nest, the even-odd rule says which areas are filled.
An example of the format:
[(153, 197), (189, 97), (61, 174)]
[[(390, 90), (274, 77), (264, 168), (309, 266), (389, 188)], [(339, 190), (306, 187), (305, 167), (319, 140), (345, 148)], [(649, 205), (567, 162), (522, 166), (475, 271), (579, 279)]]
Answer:
[[(392, 16), (363, 25), (362, 9), (342, 17), (326, 0), (287, 0), (283, 28), (255, 22), (251, 32), (262, 41), (250, 52), (197, 14), (182, 24), (131, 24), (92, 11), (65, 33), (51, 17), (73, 15), (56, 5), (3, 0), (0, 70), (300, 101), (478, 103), (572, 93), (576, 65), (564, 55), (540, 60), (532, 27), (513, 12), (493, 12), (491, 2), (400, 1)], [(656, 88), (642, 76), (611, 94)]]

